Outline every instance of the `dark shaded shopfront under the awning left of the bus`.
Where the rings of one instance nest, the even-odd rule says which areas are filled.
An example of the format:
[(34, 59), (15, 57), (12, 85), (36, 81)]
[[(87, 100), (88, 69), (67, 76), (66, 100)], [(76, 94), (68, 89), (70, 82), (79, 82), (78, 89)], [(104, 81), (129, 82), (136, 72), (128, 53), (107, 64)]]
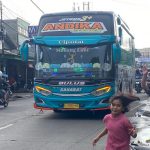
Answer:
[(0, 70), (4, 73), (4, 78), (10, 84), (17, 83), (16, 90), (24, 88), (29, 82), (33, 83), (34, 64), (33, 61), (22, 61), (20, 56), (0, 55)]

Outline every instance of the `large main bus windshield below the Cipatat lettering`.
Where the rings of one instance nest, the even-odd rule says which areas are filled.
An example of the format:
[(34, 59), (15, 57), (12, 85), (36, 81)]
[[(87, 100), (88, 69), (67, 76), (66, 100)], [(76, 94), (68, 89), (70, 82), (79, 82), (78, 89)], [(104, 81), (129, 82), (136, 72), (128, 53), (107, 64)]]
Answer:
[(86, 47), (36, 46), (36, 78), (112, 79), (112, 45)]

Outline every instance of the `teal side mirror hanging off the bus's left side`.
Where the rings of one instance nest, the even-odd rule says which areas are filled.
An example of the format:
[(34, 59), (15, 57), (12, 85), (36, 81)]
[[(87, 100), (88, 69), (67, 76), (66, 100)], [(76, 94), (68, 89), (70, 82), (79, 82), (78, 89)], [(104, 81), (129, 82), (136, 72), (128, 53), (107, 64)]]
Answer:
[(28, 53), (29, 53), (29, 40), (26, 40), (22, 43), (19, 48), (21, 59), (23, 61), (28, 61)]

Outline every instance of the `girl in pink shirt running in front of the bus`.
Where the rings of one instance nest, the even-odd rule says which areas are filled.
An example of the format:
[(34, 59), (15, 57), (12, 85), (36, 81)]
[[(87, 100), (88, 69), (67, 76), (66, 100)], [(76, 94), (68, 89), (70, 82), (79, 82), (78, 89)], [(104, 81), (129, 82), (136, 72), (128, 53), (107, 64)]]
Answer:
[(105, 150), (130, 150), (130, 137), (137, 136), (135, 128), (124, 115), (128, 111), (127, 106), (130, 102), (123, 95), (112, 97), (110, 102), (111, 114), (104, 117), (105, 128), (93, 139), (93, 146), (108, 134)]

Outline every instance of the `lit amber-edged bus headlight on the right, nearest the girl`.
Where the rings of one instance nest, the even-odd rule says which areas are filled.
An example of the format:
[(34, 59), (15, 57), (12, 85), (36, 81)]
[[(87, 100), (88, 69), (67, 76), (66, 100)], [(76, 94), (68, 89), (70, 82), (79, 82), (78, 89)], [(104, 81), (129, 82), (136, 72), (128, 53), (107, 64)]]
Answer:
[(100, 96), (109, 92), (110, 90), (111, 90), (111, 86), (108, 85), (102, 88), (98, 88), (95, 91), (92, 91), (91, 94), (93, 94), (94, 96)]

